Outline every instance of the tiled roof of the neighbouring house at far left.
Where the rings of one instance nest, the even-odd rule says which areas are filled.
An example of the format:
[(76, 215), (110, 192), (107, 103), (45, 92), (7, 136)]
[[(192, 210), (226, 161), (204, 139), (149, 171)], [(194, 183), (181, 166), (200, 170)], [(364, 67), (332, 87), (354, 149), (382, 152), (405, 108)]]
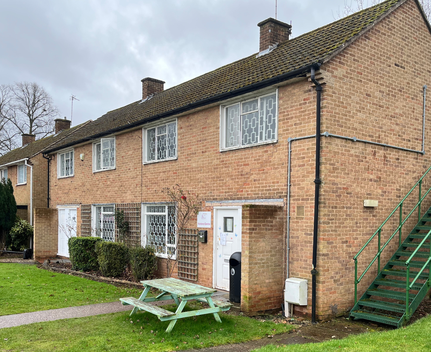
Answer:
[(8, 153), (0, 157), (0, 166), (5, 165), (7, 163), (13, 163), (14, 161), (17, 161), (17, 160), (33, 157), (34, 155), (39, 154), (42, 151), (46, 150), (54, 143), (63, 141), (63, 138), (67, 137), (71, 133), (77, 132), (81, 127), (87, 125), (90, 122), (91, 121), (81, 123), (78, 126), (72, 127), (70, 129), (66, 129), (62, 132), (57, 133), (56, 135), (50, 135), (48, 137), (41, 138), (41, 139), (38, 139), (37, 141), (29, 143), (24, 147), (13, 149), (12, 151), (9, 151)]

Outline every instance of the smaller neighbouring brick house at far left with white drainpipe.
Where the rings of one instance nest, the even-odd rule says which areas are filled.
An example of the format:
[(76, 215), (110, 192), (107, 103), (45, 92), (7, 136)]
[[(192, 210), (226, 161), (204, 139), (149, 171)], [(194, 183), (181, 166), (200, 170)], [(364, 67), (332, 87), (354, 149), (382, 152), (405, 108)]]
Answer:
[(70, 128), (70, 120), (56, 119), (55, 134), (36, 140), (23, 134), (22, 146), (0, 156), (0, 179), (11, 179), (17, 215), (33, 224), (33, 209), (49, 207), (48, 170), (44, 150), (82, 125)]

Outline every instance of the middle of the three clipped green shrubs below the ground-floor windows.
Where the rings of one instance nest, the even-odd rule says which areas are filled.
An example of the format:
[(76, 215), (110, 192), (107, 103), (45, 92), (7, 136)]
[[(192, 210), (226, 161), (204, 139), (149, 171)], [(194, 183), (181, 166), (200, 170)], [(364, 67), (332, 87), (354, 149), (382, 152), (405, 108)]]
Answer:
[(128, 249), (119, 242), (98, 242), (97, 260), (103, 276), (119, 276), (128, 263)]

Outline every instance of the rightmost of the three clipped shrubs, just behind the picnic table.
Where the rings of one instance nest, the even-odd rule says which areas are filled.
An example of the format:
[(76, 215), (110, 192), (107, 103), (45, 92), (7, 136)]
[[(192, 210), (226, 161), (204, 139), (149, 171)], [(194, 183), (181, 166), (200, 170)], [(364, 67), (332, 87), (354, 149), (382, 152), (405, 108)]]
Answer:
[(157, 257), (154, 254), (153, 247), (147, 245), (146, 247), (130, 248), (129, 261), (136, 281), (153, 277), (154, 270), (157, 267)]

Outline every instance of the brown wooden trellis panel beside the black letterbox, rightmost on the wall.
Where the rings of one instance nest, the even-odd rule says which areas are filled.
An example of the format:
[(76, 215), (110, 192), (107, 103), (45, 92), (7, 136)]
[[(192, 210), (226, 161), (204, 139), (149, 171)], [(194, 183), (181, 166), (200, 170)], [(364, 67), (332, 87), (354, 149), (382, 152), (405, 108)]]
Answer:
[(184, 229), (178, 236), (178, 277), (197, 280), (197, 229)]

